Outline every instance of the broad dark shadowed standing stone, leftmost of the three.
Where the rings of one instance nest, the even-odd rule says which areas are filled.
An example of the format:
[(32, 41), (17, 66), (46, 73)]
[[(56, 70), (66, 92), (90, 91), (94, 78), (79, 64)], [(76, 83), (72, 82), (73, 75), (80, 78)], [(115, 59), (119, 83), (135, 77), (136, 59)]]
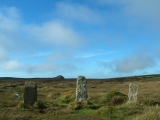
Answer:
[(32, 81), (25, 82), (24, 105), (32, 106), (37, 101), (37, 83)]

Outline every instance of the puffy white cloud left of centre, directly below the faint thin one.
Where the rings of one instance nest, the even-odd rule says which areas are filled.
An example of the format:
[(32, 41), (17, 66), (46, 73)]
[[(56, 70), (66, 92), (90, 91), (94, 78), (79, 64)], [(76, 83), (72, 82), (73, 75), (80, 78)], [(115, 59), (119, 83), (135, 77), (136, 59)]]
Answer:
[(35, 39), (43, 43), (77, 46), (81, 40), (77, 33), (59, 21), (47, 22), (41, 26), (31, 25), (27, 29)]

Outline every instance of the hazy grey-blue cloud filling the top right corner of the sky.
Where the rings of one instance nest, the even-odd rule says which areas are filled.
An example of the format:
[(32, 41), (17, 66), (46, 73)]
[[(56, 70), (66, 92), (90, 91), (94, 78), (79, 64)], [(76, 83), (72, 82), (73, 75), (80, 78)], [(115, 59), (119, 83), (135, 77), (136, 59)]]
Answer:
[[(145, 24), (145, 26), (159, 28), (160, 24), (160, 1), (159, 0), (96, 0), (102, 6), (112, 6), (112, 14), (117, 19), (119, 13), (126, 23)], [(117, 19), (118, 22), (119, 19)]]

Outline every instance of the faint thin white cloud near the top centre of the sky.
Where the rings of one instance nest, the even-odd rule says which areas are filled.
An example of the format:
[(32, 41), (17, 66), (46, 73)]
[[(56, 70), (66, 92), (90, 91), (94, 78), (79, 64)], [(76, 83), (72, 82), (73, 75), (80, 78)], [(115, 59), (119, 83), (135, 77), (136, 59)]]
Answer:
[(67, 18), (87, 23), (101, 22), (102, 18), (98, 10), (93, 10), (87, 5), (58, 3), (57, 12)]

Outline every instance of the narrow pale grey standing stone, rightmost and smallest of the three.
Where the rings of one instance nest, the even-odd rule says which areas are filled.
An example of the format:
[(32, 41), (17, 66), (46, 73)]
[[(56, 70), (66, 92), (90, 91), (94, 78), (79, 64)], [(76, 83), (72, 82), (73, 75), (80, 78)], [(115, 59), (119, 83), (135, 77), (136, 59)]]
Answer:
[(138, 89), (139, 89), (139, 85), (132, 84), (132, 83), (129, 84), (129, 93), (128, 93), (129, 103), (137, 102)]

